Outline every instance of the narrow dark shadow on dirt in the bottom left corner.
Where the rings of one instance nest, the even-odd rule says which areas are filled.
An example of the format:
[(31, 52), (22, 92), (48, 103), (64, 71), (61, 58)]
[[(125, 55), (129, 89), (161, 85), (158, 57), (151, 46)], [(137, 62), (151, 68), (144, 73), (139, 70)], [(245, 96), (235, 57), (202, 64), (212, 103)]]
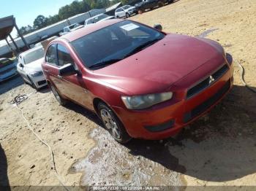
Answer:
[(10, 190), (9, 179), (7, 175), (7, 157), (0, 144), (0, 190)]

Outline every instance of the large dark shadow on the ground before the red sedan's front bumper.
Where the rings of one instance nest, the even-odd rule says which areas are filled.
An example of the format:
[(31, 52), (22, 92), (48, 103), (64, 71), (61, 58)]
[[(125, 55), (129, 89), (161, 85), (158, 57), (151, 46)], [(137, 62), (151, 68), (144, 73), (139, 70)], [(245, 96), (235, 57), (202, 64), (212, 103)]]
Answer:
[(256, 172), (256, 99), (234, 86), (206, 116), (184, 128), (176, 139), (132, 140), (132, 155), (197, 179), (225, 182)]

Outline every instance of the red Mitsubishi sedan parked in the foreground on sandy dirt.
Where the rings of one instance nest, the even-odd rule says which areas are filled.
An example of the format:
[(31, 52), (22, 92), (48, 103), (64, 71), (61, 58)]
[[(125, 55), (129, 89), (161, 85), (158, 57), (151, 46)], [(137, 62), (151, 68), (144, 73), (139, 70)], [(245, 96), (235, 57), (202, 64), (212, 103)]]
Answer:
[(90, 109), (121, 143), (165, 139), (233, 85), (232, 57), (209, 39), (107, 20), (53, 40), (42, 68), (61, 105)]

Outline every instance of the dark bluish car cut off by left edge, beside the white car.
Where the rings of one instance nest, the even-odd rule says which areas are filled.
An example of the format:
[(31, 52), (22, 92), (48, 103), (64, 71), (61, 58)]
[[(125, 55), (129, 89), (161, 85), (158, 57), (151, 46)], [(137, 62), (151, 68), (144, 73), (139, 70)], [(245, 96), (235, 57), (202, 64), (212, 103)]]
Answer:
[(16, 66), (18, 61), (10, 58), (0, 58), (0, 82), (10, 79), (18, 74)]

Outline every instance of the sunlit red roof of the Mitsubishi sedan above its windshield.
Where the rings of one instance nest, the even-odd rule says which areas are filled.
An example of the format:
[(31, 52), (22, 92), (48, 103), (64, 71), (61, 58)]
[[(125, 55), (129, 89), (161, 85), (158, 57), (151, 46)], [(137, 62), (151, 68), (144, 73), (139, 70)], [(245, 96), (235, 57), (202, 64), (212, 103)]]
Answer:
[[(82, 36), (86, 36), (87, 34), (91, 34), (94, 31), (98, 31), (99, 29), (105, 28), (107, 26), (111, 26), (115, 23), (119, 23), (123, 21), (123, 19), (111, 19), (111, 20), (104, 20), (102, 22), (94, 23), (93, 25), (89, 25), (83, 28), (79, 28), (76, 31), (72, 31), (72, 33), (64, 34), (63, 36), (59, 37), (59, 39), (65, 39), (68, 42), (72, 42), (76, 39), (80, 39)], [(55, 42), (55, 40), (53, 40)]]

